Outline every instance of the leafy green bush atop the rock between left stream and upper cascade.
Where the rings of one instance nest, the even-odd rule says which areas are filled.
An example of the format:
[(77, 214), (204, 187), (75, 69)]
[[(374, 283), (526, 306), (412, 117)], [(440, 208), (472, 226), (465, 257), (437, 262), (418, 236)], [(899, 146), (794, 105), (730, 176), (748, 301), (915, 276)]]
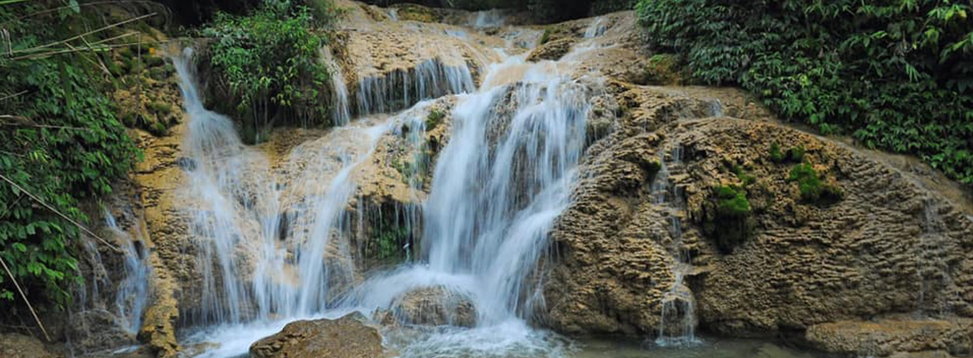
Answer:
[[(273, 120), (286, 124), (330, 125), (328, 119), (328, 71), (319, 60), (327, 45), (325, 32), (304, 7), (269, 1), (246, 17), (220, 13), (203, 36), (213, 39), (208, 49), (212, 77), (227, 90), (250, 142)], [(205, 61), (205, 60), (204, 60)], [(299, 122), (300, 121), (300, 122)]]

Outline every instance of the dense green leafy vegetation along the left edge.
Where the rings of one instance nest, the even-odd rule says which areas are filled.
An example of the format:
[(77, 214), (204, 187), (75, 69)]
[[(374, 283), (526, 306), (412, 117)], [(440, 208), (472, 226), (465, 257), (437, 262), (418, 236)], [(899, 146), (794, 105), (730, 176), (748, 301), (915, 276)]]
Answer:
[[(70, 300), (81, 235), (71, 221), (88, 223), (80, 202), (111, 193), (138, 158), (98, 55), (112, 46), (99, 40), (116, 34), (75, 37), (117, 18), (106, 7), (62, 5), (0, 5), (11, 39), (0, 54), (0, 258), (35, 304)], [(19, 304), (15, 292), (0, 271), (0, 309)]]

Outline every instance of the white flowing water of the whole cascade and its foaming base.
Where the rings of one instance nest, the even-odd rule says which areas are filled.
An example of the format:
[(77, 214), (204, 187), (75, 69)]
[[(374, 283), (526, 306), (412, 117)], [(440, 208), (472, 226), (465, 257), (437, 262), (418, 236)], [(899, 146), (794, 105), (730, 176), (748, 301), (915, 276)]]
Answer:
[[(479, 13), (470, 30), (502, 23), (499, 13)], [(590, 30), (591, 37), (605, 31), (600, 21)], [(337, 318), (350, 311), (396, 311), (411, 293), (437, 289), (472, 304), (474, 323), (385, 332), (387, 343), (402, 356), (682, 357), (707, 352), (689, 348), (669, 354), (642, 347), (614, 352), (603, 341), (586, 344), (531, 327), (531, 314), (543, 304), (544, 268), (538, 263), (547, 254), (553, 222), (570, 203), (585, 149), (588, 103), (599, 90), (581, 85), (559, 63), (531, 63), (524, 60), (526, 54), (501, 53), (501, 60), (479, 68), (479, 87), (469, 66), (437, 57), (412, 70), (360, 79), (355, 103), (344, 89), (338, 61), (323, 53), (336, 74), (332, 102), (339, 126), (284, 158), (243, 145), (229, 118), (203, 108), (190, 67), (192, 52), (175, 58), (189, 115), (184, 147), (195, 163), (183, 191), (193, 198), (186, 210), (197, 238), (191, 252), (202, 275), (201, 302), (183, 315), (183, 323), (196, 329), (188, 329), (192, 332), (182, 340), (219, 343), (199, 357), (242, 356), (252, 342), (279, 332), (287, 322)], [(359, 279), (350, 233), (353, 223), (366, 221), (368, 211), (357, 207), (357, 220), (349, 212), (360, 184), (356, 169), (385, 135), (403, 136), (413, 144), (412, 172), (430, 165), (421, 139), (430, 115), (427, 99), (444, 95), (455, 96), (450, 140), (431, 168), (431, 183), (409, 178), (414, 189), (428, 185), (429, 194), (397, 208), (407, 218), (397, 225), (413, 230), (421, 223), (417, 257)], [(352, 119), (349, 108), (359, 118)], [(672, 225), (681, 230), (678, 221)], [(413, 252), (408, 246), (397, 249)], [(683, 272), (676, 273), (681, 277)], [(684, 294), (678, 287), (683, 286), (677, 280), (673, 295)], [(683, 306), (681, 314), (693, 318), (688, 307), (690, 312)], [(450, 323), (458, 319), (448, 318)], [(695, 323), (687, 327), (687, 337), (695, 340)], [(667, 329), (661, 332), (665, 337)], [(734, 354), (729, 356), (745, 356)]]

